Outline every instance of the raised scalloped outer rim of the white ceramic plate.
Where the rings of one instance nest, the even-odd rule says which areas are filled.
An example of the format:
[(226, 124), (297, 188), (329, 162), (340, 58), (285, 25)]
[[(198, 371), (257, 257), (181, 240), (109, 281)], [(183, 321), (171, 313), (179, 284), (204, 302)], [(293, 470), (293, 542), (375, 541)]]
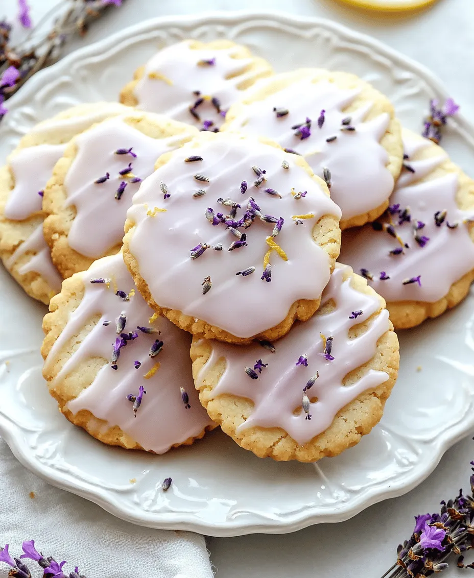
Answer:
[[(239, 21), (249, 20), (265, 20), (277, 22), (284, 25), (294, 25), (295, 27), (312, 28), (316, 25), (323, 25), (334, 29), (340, 35), (346, 36), (351, 40), (358, 42), (364, 46), (369, 46), (378, 54), (386, 56), (391, 61), (398, 62), (404, 68), (410, 69), (421, 77), (428, 86), (434, 88), (439, 95), (447, 97), (447, 91), (442, 82), (431, 73), (425, 66), (419, 64), (412, 59), (405, 57), (397, 50), (391, 49), (389, 46), (379, 40), (373, 39), (368, 35), (362, 34), (345, 27), (344, 25), (335, 23), (325, 18), (316, 17), (298, 17), (282, 11), (249, 11), (239, 10), (235, 12), (213, 11), (200, 14), (198, 16), (164, 16), (147, 20), (138, 23), (110, 35), (105, 39), (84, 46), (66, 55), (59, 62), (50, 66), (49, 68), (39, 71), (32, 79), (21, 88), (16, 95), (9, 99), (9, 108), (14, 110), (21, 105), (27, 103), (35, 92), (35, 87), (42, 86), (43, 79), (49, 76), (54, 76), (55, 72), (60, 72), (61, 69), (67, 68), (69, 64), (79, 61), (81, 58), (97, 53), (105, 53), (112, 49), (117, 43), (125, 43), (127, 40), (131, 42), (136, 34), (146, 34), (153, 31), (155, 28), (163, 27), (166, 24), (173, 24), (177, 27), (186, 27), (192, 29), (198, 25), (205, 25), (206, 23), (219, 24), (220, 22), (226, 24), (237, 24)], [(464, 136), (474, 145), (474, 127), (465, 120), (462, 115), (456, 118), (456, 125), (464, 132)], [(425, 459), (420, 462), (421, 469), (413, 468), (409, 475), (405, 475), (401, 480), (388, 481), (388, 489), (381, 490), (376, 486), (368, 486), (366, 490), (354, 499), (351, 499), (349, 505), (339, 505), (334, 508), (331, 513), (324, 512), (321, 514), (317, 507), (309, 508), (306, 512), (299, 512), (291, 517), (291, 513), (286, 513), (286, 519), (282, 521), (266, 518), (264, 524), (255, 524), (251, 521), (245, 522), (240, 518), (231, 518), (224, 524), (201, 523), (197, 521), (192, 513), (150, 513), (143, 510), (136, 514), (131, 512), (128, 507), (120, 505), (116, 496), (110, 494), (106, 490), (94, 486), (91, 489), (91, 484), (83, 480), (77, 480), (72, 473), (58, 472), (53, 468), (43, 465), (36, 459), (31, 449), (21, 443), (23, 432), (21, 427), (14, 423), (10, 418), (0, 414), (0, 434), (8, 443), (10, 450), (25, 467), (32, 470), (34, 473), (49, 481), (49, 483), (57, 486), (63, 490), (68, 490), (81, 497), (87, 498), (91, 502), (101, 506), (107, 512), (117, 516), (123, 520), (134, 524), (143, 525), (150, 528), (160, 529), (186, 529), (194, 532), (202, 532), (213, 536), (238, 536), (248, 533), (265, 532), (265, 533), (286, 533), (297, 531), (317, 523), (335, 523), (338, 521), (347, 520), (348, 518), (360, 513), (366, 507), (380, 502), (384, 499), (398, 497), (406, 492), (412, 490), (436, 468), (443, 454), (449, 447), (457, 443), (460, 439), (469, 433), (472, 424), (468, 420), (461, 419), (456, 424), (448, 429), (445, 429), (434, 442), (431, 443), (430, 459)], [(190, 520), (191, 518), (191, 520)]]

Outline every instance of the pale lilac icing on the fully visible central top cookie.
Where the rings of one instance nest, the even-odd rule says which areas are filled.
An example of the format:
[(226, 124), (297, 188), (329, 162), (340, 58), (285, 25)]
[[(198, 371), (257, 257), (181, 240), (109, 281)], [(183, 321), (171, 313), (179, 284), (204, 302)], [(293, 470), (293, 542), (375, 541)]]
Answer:
[[(313, 177), (292, 162), (291, 154), (253, 138), (206, 136), (209, 138), (177, 150), (171, 160), (142, 183), (128, 212), (128, 218), (136, 223), (129, 250), (159, 306), (180, 310), (232, 335), (249, 338), (280, 323), (298, 299), (320, 297), (329, 280), (329, 259), (314, 242), (312, 230), (320, 217), (339, 217), (340, 211)], [(192, 155), (203, 160), (185, 162)], [(288, 169), (282, 168), (284, 160), (290, 165)], [(257, 175), (252, 166), (266, 171), (260, 188), (254, 186)], [(194, 175), (199, 173), (209, 182), (196, 180)], [(240, 183), (244, 180), (248, 189), (242, 194)], [(165, 201), (160, 183), (166, 183), (171, 194)], [(295, 199), (292, 187), (308, 193)], [(277, 190), (282, 198), (269, 195), (266, 188)], [(205, 194), (194, 198), (193, 193), (199, 189)], [(275, 224), (255, 218), (249, 228), (239, 229), (247, 236), (247, 246), (229, 251), (238, 238), (225, 224), (213, 226), (206, 218), (208, 208), (213, 208), (215, 214), (228, 214), (229, 206), (217, 199), (229, 198), (242, 205), (236, 214), (239, 220), (250, 197), (263, 215), (284, 218), (282, 230), (273, 240), (286, 252), (288, 260), (276, 252), (271, 254), (269, 283), (261, 276), (269, 249), (266, 239), (271, 238)], [(147, 213), (155, 207), (166, 211), (149, 216)], [(301, 214), (314, 217), (295, 224), (292, 216)], [(211, 247), (192, 260), (190, 251), (199, 243)], [(219, 243), (223, 250), (212, 249)], [(249, 267), (255, 267), (251, 275), (236, 275)], [(206, 276), (211, 277), (212, 288), (203, 294)]]

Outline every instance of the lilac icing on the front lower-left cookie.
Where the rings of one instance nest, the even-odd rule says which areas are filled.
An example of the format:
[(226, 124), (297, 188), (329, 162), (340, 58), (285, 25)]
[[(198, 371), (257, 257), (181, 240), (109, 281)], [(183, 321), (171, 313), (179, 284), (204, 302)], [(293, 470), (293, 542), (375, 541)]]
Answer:
[[(114, 292), (114, 284), (127, 294), (135, 287), (121, 253), (94, 262), (88, 271), (79, 275), (85, 287), (84, 297), (77, 309), (69, 314), (68, 323), (51, 348), (45, 362), (45, 372), (51, 370), (65, 344), (79, 334), (94, 314), (100, 314), (101, 318), (82, 342), (74, 347), (71, 357), (51, 381), (50, 388), (58, 386), (88, 359), (110, 359), (117, 338), (116, 320), (121, 313), (126, 317), (126, 333), (137, 331), (138, 326), (150, 327), (149, 318), (153, 311), (138, 291), (129, 301), (123, 301)], [(112, 280), (109, 287), (90, 282), (101, 277)], [(104, 321), (110, 321), (110, 324), (105, 326)], [(119, 426), (145, 450), (162, 454), (174, 444), (198, 436), (203, 429), (212, 425), (212, 421), (199, 403), (192, 381), (190, 335), (165, 318), (158, 318), (151, 327), (159, 329), (161, 335), (145, 334), (138, 330), (138, 337), (120, 349), (117, 370), (113, 370), (110, 363), (103, 365), (90, 386), (69, 401), (66, 408), (73, 414), (88, 410), (106, 421), (108, 427)], [(164, 347), (155, 358), (150, 358), (150, 347), (155, 339), (161, 339)], [(141, 362), (138, 369), (135, 369), (135, 360)], [(160, 362), (157, 372), (145, 379), (144, 376), (156, 362)], [(127, 395), (138, 395), (140, 385), (145, 387), (146, 394), (134, 417), (133, 403), (128, 401)], [(183, 402), (180, 387), (188, 394), (189, 408)]]

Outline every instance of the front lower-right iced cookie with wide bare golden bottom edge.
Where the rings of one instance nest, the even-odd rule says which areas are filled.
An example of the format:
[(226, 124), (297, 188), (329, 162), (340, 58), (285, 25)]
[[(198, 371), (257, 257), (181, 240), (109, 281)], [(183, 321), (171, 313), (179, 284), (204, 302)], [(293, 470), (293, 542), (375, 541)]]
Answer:
[(246, 450), (312, 462), (340, 454), (382, 417), (398, 339), (383, 299), (336, 265), (321, 307), (278, 342), (194, 338), (193, 375), (209, 416)]

